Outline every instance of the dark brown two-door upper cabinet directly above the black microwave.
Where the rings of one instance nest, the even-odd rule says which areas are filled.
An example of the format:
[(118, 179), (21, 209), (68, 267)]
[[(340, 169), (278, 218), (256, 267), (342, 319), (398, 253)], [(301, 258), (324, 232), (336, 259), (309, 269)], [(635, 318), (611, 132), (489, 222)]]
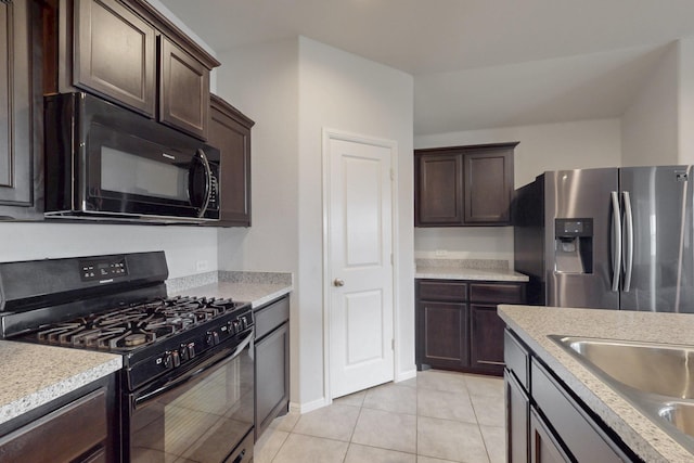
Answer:
[(60, 17), (57, 91), (97, 93), (207, 138), (219, 62), (169, 20), (144, 0), (65, 0)]

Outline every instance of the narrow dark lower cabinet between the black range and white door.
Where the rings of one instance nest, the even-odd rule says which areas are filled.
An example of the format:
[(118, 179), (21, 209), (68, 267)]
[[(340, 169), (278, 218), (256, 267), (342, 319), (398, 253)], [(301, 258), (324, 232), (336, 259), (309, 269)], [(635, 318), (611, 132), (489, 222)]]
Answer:
[(290, 298), (285, 296), (260, 307), (256, 318), (255, 437), (290, 403)]

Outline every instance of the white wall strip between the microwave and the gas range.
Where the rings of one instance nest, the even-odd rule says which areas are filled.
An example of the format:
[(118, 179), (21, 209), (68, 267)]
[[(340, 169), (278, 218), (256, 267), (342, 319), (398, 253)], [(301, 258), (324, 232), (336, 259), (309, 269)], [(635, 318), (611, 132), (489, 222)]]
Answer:
[(0, 222), (0, 260), (164, 250), (169, 278), (217, 269), (217, 230), (202, 227)]

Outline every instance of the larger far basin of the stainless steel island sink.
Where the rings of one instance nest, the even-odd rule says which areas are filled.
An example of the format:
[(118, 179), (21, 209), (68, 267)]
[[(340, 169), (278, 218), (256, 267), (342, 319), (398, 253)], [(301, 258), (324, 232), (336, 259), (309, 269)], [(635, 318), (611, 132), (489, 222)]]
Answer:
[(584, 337), (556, 337), (613, 380), (637, 390), (694, 399), (694, 348)]

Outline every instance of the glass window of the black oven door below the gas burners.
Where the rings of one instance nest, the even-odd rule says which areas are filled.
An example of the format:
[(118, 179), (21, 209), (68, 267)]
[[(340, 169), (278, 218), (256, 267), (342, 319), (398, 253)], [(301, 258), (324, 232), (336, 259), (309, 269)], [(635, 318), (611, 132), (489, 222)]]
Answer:
[(246, 348), (234, 359), (138, 404), (130, 423), (130, 461), (223, 461), (253, 428), (253, 374)]

